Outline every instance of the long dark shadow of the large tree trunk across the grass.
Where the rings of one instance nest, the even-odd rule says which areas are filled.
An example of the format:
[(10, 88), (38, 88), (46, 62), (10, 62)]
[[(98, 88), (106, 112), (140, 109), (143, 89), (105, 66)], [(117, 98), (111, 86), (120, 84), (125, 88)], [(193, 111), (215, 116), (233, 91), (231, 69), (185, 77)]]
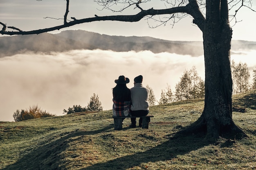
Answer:
[[(174, 135), (173, 137), (169, 137), (167, 142), (145, 152), (112, 159), (104, 163), (97, 163), (81, 170), (126, 170), (139, 166), (141, 163), (168, 161), (176, 158), (177, 155), (185, 155), (209, 144), (202, 137)], [(193, 163), (191, 162), (191, 165)]]

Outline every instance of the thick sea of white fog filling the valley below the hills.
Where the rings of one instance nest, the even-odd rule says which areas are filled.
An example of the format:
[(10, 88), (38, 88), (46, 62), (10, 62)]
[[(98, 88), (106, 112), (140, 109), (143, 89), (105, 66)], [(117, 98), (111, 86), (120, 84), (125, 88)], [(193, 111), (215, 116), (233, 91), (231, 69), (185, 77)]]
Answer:
[[(247, 63), (252, 77), (256, 50), (231, 55), (231, 60)], [(95, 93), (103, 110), (112, 109), (112, 88), (120, 75), (133, 78), (143, 75), (159, 100), (167, 85), (175, 90), (184, 70), (195, 66), (204, 80), (204, 58), (189, 55), (154, 54), (150, 51), (113, 52), (72, 50), (51, 54), (17, 54), (0, 58), (0, 121), (13, 121), (13, 113), (38, 105), (58, 116), (73, 105), (85, 107)]]

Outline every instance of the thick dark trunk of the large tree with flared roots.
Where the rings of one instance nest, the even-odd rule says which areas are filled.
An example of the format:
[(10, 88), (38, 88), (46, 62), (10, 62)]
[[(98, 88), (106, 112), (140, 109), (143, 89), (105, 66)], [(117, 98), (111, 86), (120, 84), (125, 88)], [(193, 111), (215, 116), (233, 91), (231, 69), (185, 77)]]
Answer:
[[(214, 2), (214, 3), (213, 3)], [(227, 0), (207, 0), (204, 22), (204, 111), (187, 132), (205, 132), (207, 138), (241, 138), (246, 134), (232, 120), (230, 48), (232, 30)]]

